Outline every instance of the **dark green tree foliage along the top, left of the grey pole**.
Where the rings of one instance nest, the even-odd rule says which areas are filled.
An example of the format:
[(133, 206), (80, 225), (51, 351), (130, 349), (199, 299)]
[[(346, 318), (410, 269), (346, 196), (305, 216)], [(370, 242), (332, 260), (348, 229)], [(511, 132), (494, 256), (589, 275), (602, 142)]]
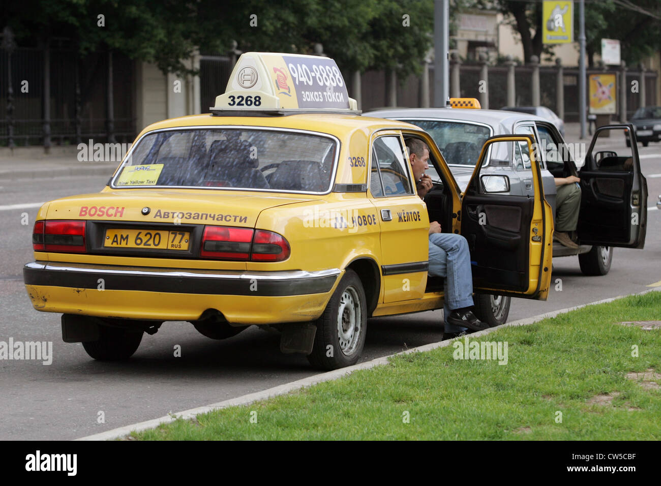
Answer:
[[(308, 54), (315, 43), (346, 71), (417, 71), (431, 46), (431, 0), (7, 0), (0, 24), (20, 45), (73, 40), (188, 73), (196, 48)], [(410, 26), (405, 26), (408, 15)], [(99, 17), (102, 16), (102, 17)]]

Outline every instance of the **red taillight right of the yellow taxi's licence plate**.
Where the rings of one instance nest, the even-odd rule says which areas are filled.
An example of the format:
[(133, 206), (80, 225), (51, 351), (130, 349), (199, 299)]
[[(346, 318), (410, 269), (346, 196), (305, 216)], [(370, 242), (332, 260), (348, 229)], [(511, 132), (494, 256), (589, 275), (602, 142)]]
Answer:
[(218, 260), (281, 262), (290, 256), (284, 237), (264, 229), (205, 226), (200, 257)]

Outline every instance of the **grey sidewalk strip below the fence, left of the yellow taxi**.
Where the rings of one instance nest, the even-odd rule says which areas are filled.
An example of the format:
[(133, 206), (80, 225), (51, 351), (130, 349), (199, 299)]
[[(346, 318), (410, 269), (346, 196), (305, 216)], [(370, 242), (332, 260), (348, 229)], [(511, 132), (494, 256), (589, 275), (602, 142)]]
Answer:
[(17, 147), (0, 149), (0, 181), (95, 175), (110, 177), (117, 166), (113, 162), (85, 162), (78, 160), (76, 147), (52, 147), (49, 154), (44, 147)]

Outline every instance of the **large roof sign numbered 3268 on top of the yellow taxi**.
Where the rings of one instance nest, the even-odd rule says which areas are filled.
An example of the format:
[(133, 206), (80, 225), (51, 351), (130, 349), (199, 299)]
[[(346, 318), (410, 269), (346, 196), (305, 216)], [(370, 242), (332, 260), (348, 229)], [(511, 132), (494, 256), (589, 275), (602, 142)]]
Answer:
[(214, 114), (360, 113), (331, 58), (245, 52), (237, 61)]

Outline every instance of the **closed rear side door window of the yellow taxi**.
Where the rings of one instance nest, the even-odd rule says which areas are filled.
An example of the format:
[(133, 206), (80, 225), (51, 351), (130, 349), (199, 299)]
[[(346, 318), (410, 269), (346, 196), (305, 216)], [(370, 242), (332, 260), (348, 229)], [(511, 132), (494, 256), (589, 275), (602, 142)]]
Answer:
[[(399, 137), (377, 138), (373, 144), (373, 154), (381, 174), (384, 195), (413, 194), (408, 180), (408, 163), (405, 162)], [(372, 165), (374, 165), (373, 162)]]

